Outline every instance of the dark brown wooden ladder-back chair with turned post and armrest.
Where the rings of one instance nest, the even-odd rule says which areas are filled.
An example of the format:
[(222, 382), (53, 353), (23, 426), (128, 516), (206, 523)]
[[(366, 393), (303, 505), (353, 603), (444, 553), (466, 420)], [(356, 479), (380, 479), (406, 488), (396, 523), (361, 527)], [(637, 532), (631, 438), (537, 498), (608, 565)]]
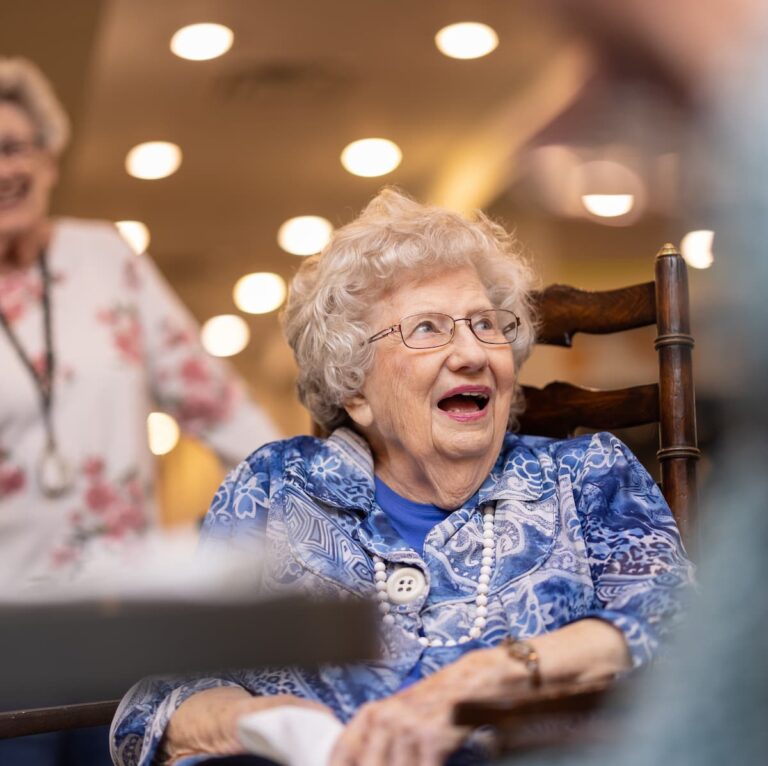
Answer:
[[(576, 333), (607, 334), (656, 325), (659, 379), (618, 390), (585, 389), (550, 383), (525, 387), (526, 410), (520, 430), (565, 437), (576, 428), (614, 430), (658, 423), (662, 491), (683, 538), (694, 541), (696, 519), (696, 416), (691, 363), (688, 275), (672, 245), (656, 256), (655, 281), (619, 290), (587, 292), (552, 285), (535, 296), (540, 331), (537, 342), (570, 347)], [(694, 546), (695, 547), (695, 546)], [(504, 752), (604, 740), (614, 715), (625, 708), (635, 681), (568, 684), (542, 688), (534, 696), (503, 703), (467, 702), (457, 722), (491, 724)]]

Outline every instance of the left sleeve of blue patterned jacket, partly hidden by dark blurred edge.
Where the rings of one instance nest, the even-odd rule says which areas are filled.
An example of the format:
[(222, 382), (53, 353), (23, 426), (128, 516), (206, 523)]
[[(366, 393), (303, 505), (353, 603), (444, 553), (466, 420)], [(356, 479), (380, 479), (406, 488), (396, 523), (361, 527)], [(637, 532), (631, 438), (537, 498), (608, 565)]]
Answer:
[[(206, 516), (201, 554), (214, 553), (217, 543), (249, 547), (259, 545), (266, 527), (269, 504), (269, 463), (275, 447), (265, 447), (232, 470), (213, 499)], [(235, 540), (236, 536), (236, 540)], [(260, 556), (252, 557), (260, 559)], [(153, 677), (136, 684), (122, 699), (112, 721), (110, 744), (117, 766), (150, 766), (176, 708), (206, 689), (240, 686), (239, 672), (215, 677)]]

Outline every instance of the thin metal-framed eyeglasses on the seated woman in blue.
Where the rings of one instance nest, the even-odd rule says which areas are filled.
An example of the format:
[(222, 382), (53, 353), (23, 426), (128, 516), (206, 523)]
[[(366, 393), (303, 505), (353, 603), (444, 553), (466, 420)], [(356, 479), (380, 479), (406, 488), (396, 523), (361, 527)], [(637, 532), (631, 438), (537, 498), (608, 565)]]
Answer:
[(456, 332), (456, 323), (466, 322), (474, 336), (483, 343), (509, 345), (517, 340), (520, 319), (505, 309), (485, 309), (472, 316), (454, 319), (448, 314), (411, 314), (368, 338), (368, 343), (399, 333), (408, 348), (447, 346)]

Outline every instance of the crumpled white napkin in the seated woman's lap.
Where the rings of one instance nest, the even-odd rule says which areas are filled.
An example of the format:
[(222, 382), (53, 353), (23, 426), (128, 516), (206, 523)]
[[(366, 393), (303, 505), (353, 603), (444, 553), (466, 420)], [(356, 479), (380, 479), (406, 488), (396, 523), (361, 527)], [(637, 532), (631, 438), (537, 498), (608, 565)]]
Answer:
[(327, 713), (295, 705), (249, 713), (237, 722), (237, 735), (249, 752), (283, 766), (327, 766), (343, 729)]

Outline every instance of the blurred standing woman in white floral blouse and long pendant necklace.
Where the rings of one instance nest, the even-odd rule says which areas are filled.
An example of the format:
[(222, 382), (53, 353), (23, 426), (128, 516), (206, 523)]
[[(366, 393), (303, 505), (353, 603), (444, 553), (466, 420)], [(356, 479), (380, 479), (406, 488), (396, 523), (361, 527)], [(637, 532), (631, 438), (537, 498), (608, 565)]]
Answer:
[(49, 216), (68, 133), (39, 70), (0, 59), (0, 571), (22, 586), (157, 523), (152, 409), (228, 467), (277, 436), (146, 255)]

